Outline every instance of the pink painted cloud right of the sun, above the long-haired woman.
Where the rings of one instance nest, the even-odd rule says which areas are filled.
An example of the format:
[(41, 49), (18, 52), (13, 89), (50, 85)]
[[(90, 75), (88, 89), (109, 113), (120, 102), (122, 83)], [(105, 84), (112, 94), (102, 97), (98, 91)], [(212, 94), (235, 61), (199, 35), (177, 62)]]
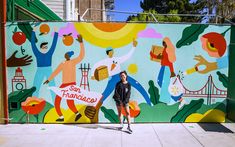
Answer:
[(162, 38), (162, 34), (156, 32), (153, 28), (148, 28), (138, 33), (140, 38)]

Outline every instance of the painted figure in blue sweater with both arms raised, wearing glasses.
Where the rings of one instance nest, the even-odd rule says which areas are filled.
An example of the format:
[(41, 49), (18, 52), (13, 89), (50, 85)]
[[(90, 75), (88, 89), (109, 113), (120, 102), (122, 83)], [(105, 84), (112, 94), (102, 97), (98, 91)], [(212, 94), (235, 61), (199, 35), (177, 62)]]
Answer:
[[(36, 35), (35, 31), (37, 30), (36, 27), (33, 28), (32, 36), (31, 36), (31, 46), (33, 53), (37, 60), (37, 71), (34, 76), (33, 86), (36, 87), (36, 91), (34, 92), (34, 96), (39, 97), (39, 90), (43, 83), (44, 78), (48, 78), (52, 73), (51, 62), (52, 56), (54, 54), (57, 40), (58, 40), (58, 28), (54, 28), (54, 38), (51, 47), (48, 49), (48, 42), (42, 42), (40, 44), (40, 50), (38, 50), (36, 46)], [(54, 80), (49, 83), (49, 86), (55, 86)], [(55, 95), (51, 92), (51, 97), (53, 98)]]

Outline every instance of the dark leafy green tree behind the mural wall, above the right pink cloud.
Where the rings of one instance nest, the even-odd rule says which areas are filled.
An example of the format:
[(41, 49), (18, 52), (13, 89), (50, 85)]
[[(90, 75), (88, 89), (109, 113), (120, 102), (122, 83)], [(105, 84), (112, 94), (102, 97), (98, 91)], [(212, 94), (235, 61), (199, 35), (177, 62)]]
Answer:
[[(155, 11), (155, 16), (160, 17), (159, 14), (201, 14), (205, 5), (204, 0), (197, 0), (190, 3), (190, 0), (143, 0), (140, 2), (140, 7), (144, 12)], [(139, 18), (138, 16), (136, 16)], [(130, 16), (128, 20), (137, 19)], [(158, 21), (190, 21), (199, 22), (199, 17), (180, 17), (180, 16), (163, 16)]]

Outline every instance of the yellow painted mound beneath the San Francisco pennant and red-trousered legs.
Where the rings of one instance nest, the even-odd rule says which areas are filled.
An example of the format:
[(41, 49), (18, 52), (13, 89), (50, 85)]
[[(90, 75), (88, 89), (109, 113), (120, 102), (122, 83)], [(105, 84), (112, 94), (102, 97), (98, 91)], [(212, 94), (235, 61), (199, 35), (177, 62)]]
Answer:
[(78, 104), (76, 105), (76, 108), (78, 112), (82, 114), (82, 117), (76, 122), (75, 114), (69, 108), (67, 110), (61, 108), (61, 112), (64, 115), (64, 122), (56, 122), (56, 119), (58, 119), (59, 116), (56, 113), (55, 108), (51, 108), (44, 117), (44, 123), (90, 123), (90, 119), (84, 114), (86, 106)]

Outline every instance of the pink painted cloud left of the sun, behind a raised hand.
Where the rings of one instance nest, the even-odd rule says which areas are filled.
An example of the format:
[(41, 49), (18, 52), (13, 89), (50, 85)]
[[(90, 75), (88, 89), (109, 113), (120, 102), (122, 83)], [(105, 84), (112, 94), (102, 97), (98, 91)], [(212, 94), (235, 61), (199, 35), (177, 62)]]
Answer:
[(63, 37), (63, 35), (72, 33), (71, 36), (73, 36), (73, 38), (77, 38), (78, 35), (78, 32), (76, 31), (73, 23), (68, 23), (65, 27), (61, 28), (58, 33), (59, 37)]

